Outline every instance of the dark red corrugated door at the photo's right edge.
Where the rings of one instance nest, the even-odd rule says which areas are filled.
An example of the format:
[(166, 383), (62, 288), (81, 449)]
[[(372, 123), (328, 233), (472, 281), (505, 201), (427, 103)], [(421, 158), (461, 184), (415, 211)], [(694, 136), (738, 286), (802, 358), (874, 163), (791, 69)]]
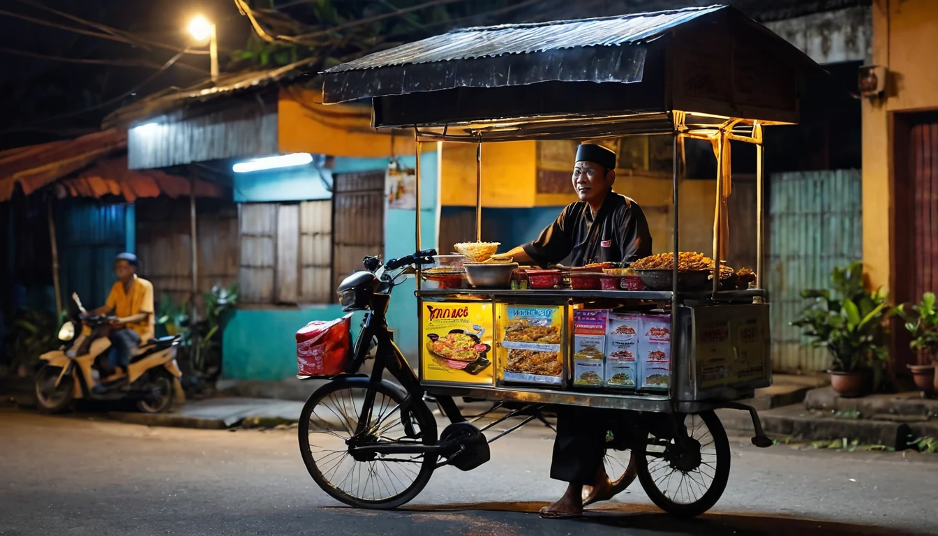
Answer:
[[(938, 123), (912, 127), (914, 201), (912, 247), (915, 282), (911, 300), (926, 292), (938, 291)], [(919, 364), (930, 363), (930, 356), (919, 352)]]

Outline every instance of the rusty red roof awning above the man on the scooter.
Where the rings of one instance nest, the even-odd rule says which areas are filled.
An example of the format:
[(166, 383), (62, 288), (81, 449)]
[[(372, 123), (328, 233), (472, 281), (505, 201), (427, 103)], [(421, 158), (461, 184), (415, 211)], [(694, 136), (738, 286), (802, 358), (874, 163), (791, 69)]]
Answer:
[[(72, 197), (121, 195), (138, 197), (189, 195), (189, 179), (158, 170), (127, 167), (127, 131), (102, 130), (73, 140), (16, 147), (0, 152), (0, 202), (8, 201), (19, 184), (29, 195), (60, 181), (56, 194)], [(196, 182), (196, 195), (220, 197), (221, 189)]]

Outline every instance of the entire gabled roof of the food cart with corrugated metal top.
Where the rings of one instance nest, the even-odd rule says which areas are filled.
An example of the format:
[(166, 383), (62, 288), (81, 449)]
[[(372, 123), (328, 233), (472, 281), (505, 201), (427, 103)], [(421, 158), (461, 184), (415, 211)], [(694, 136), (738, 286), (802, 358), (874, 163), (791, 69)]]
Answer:
[[(327, 69), (324, 102), (371, 98), (375, 127), (481, 129), (489, 139), (504, 130), (492, 120), (522, 139), (553, 135), (549, 117), (637, 115), (627, 130), (644, 131), (649, 120), (670, 125), (673, 110), (792, 123), (797, 77), (816, 72), (762, 24), (711, 6), (453, 30)], [(520, 132), (533, 117), (540, 133)], [(593, 130), (567, 125), (556, 137)]]

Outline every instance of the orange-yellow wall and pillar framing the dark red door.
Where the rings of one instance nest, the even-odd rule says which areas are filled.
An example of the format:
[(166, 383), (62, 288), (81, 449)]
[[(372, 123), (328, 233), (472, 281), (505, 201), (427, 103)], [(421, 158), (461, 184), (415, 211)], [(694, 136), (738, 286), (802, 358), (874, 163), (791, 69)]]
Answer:
[(870, 283), (892, 283), (892, 123), (897, 112), (938, 108), (938, 2), (874, 0), (873, 65), (891, 75), (883, 100), (863, 102), (863, 261)]

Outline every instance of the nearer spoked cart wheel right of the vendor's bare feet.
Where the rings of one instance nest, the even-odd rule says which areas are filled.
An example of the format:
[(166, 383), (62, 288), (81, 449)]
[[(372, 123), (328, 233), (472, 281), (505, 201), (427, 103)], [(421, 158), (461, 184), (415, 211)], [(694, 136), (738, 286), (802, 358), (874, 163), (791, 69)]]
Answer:
[(695, 517), (717, 503), (730, 478), (730, 441), (713, 411), (675, 416), (686, 436), (649, 434), (644, 452), (635, 452), (639, 482), (658, 508)]

